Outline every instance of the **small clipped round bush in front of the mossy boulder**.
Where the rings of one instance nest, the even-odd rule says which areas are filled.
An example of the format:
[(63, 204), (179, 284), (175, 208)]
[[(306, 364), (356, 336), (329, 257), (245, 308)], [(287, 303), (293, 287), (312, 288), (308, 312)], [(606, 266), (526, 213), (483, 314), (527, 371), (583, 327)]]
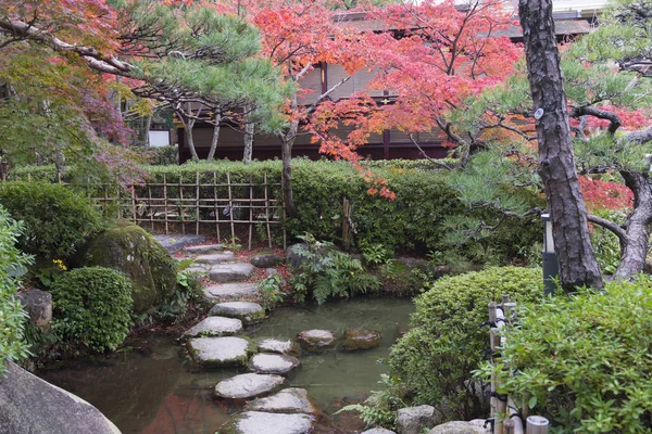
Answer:
[(131, 282), (122, 272), (77, 268), (52, 285), (52, 330), (96, 352), (115, 349), (131, 326)]

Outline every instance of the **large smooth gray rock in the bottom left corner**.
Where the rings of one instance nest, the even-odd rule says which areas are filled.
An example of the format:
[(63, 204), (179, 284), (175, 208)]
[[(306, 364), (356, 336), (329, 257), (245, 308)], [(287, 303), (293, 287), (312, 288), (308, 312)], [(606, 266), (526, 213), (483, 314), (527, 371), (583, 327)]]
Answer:
[(120, 434), (84, 399), (7, 363), (0, 375), (0, 433)]

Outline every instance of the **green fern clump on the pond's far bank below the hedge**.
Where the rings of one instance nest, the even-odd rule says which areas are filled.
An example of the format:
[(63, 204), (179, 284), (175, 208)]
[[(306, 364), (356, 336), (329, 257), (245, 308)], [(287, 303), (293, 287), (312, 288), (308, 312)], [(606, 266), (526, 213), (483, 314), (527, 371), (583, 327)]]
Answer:
[(301, 239), (305, 245), (296, 246), (293, 252), (303, 260), (290, 279), (297, 302), (303, 302), (312, 294), (318, 304), (323, 304), (330, 297), (348, 298), (380, 288), (378, 278), (366, 273), (359, 259), (336, 251), (333, 243), (319, 242), (310, 233)]

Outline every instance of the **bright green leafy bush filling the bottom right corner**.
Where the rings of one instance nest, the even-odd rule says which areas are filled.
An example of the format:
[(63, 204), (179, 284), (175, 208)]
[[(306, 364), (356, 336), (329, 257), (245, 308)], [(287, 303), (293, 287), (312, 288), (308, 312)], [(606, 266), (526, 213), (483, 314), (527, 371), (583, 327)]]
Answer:
[(494, 371), (501, 392), (548, 418), (553, 433), (651, 432), (650, 311), (652, 279), (642, 276), (522, 309)]

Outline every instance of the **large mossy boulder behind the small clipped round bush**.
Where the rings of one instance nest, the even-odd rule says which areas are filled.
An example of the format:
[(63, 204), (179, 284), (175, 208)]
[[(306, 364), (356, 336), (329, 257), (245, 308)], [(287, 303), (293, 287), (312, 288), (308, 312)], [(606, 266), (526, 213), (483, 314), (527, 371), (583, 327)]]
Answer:
[(127, 275), (134, 311), (147, 312), (176, 289), (174, 258), (152, 235), (135, 225), (120, 225), (96, 235), (74, 259), (77, 267), (108, 267)]

